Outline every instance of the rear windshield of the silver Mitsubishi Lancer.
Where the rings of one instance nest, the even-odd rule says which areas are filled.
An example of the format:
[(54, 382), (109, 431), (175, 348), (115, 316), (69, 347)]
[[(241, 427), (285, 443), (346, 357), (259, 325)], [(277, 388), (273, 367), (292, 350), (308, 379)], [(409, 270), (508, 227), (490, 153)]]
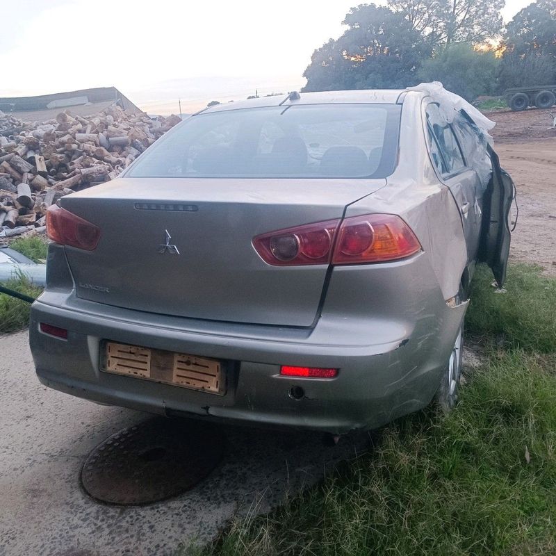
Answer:
[(201, 113), (129, 177), (381, 178), (394, 170), (401, 106), (319, 104)]

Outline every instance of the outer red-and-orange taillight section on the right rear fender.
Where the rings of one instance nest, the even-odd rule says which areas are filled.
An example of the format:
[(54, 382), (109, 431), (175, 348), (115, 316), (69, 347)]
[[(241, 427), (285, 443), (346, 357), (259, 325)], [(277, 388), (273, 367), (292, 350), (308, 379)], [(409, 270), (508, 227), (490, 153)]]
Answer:
[(399, 216), (354, 216), (342, 222), (332, 263), (341, 265), (395, 261), (420, 249), (415, 234)]

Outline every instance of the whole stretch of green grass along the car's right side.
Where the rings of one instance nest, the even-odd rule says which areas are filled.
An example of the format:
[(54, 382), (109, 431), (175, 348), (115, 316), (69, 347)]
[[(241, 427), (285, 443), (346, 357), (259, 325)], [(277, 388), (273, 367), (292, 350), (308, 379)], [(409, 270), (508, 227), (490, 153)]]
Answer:
[(477, 269), (467, 326), (485, 360), (455, 411), (392, 423), (322, 484), (178, 554), (556, 554), (556, 280), (540, 272), (512, 265), (502, 294)]

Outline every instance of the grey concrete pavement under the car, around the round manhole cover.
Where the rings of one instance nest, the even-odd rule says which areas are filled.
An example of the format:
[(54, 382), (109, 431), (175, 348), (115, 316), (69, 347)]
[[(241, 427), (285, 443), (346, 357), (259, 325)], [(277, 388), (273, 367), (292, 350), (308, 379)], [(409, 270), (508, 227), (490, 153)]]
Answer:
[(149, 418), (45, 388), (28, 334), (0, 337), (0, 556), (170, 555), (251, 505), (268, 510), (366, 445), (364, 434), (332, 448), (313, 433), (224, 427), (222, 463), (188, 493), (142, 507), (92, 500), (79, 482), (85, 457)]

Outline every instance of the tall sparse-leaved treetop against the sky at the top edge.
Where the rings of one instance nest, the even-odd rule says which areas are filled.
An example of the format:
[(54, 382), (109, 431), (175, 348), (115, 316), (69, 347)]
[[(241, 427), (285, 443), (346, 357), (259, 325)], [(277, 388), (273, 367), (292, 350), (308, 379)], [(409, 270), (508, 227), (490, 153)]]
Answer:
[(430, 44), (480, 44), (500, 35), (505, 0), (389, 0)]

